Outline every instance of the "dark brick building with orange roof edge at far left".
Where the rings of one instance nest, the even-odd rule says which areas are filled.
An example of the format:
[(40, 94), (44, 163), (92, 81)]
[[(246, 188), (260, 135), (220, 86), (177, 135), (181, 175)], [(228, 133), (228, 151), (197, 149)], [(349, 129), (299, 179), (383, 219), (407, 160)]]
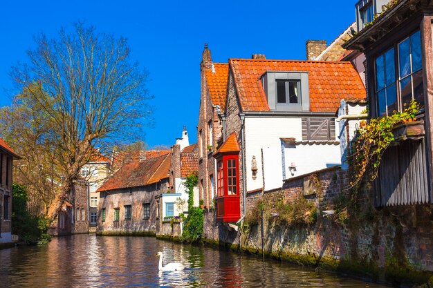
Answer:
[(12, 242), (12, 162), (19, 156), (0, 138), (0, 244)]

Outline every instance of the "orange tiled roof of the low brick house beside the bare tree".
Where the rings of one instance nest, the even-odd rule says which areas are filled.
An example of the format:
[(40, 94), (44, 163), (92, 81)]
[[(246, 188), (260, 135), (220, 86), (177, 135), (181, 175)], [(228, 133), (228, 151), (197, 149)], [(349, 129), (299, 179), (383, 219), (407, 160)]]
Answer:
[(108, 191), (137, 186), (146, 186), (169, 177), (170, 155), (154, 157), (142, 162), (135, 160), (122, 166), (113, 177), (98, 189)]

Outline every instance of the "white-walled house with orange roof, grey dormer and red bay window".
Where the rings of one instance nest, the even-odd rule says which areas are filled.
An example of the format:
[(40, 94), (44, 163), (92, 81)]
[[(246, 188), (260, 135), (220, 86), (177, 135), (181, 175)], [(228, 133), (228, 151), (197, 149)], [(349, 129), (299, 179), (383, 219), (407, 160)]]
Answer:
[[(281, 189), (285, 179), (340, 165), (335, 111), (342, 99), (365, 98), (362, 80), (348, 61), (229, 59), (227, 83), (225, 106), (216, 115), (223, 141), (207, 157), (209, 169), (216, 166), (217, 191), (216, 219), (206, 218), (207, 227), (215, 220), (239, 220), (249, 193)], [(199, 127), (205, 124), (202, 119)], [(212, 189), (203, 191), (210, 199)], [(221, 229), (205, 237), (223, 240)]]

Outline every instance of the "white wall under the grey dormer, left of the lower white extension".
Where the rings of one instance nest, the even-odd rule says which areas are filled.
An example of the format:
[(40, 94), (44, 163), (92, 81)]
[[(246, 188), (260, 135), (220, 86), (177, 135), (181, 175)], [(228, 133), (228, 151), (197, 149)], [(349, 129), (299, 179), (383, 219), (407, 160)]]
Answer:
[[(263, 188), (263, 172), (261, 163), (261, 149), (264, 154), (270, 156), (266, 160), (265, 167), (267, 187), (282, 185), (282, 152), (280, 138), (296, 138), (302, 140), (301, 118), (277, 118), (277, 117), (246, 117), (245, 119), (245, 143), (246, 143), (246, 185), (247, 191)], [(275, 155), (279, 155), (275, 157)], [(257, 177), (252, 179), (252, 156), (257, 161)], [(279, 161), (279, 163), (277, 163)], [(275, 164), (275, 165), (274, 165)], [(279, 184), (278, 184), (279, 183)], [(277, 187), (275, 187), (277, 188)]]

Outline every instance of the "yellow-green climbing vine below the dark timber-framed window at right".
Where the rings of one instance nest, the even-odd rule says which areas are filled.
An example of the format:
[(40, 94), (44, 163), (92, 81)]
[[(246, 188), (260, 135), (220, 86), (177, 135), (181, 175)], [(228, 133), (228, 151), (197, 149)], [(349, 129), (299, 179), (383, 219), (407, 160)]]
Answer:
[(349, 155), (352, 188), (358, 186), (363, 179), (368, 182), (376, 179), (382, 155), (395, 140), (392, 130), (397, 124), (416, 120), (418, 110), (419, 104), (412, 100), (402, 112), (394, 111), (390, 116), (371, 119), (368, 124), (360, 122), (359, 135), (353, 140)]

